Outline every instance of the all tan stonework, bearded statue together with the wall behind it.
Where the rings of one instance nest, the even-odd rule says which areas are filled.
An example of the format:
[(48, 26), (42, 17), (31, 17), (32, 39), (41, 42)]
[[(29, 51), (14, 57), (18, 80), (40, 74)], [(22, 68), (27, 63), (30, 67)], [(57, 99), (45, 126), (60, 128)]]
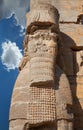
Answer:
[(83, 129), (82, 4), (30, 1), (9, 130)]

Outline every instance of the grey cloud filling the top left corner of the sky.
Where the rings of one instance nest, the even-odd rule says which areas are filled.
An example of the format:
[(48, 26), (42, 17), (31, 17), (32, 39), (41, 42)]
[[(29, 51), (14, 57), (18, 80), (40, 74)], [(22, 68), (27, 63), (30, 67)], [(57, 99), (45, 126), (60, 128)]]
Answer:
[(25, 26), (25, 14), (30, 8), (30, 0), (0, 0), (0, 18), (16, 14), (19, 24)]

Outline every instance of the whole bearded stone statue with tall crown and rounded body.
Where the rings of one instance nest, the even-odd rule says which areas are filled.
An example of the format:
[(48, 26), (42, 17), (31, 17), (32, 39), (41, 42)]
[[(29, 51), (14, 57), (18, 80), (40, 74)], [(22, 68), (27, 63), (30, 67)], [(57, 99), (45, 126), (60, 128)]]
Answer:
[(73, 130), (70, 85), (56, 62), (58, 10), (41, 3), (26, 17), (24, 57), (12, 95), (9, 130)]

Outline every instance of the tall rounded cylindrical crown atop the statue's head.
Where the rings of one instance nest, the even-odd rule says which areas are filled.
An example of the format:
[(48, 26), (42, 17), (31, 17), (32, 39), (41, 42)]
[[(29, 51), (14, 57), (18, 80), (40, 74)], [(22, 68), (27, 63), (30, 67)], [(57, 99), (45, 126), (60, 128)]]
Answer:
[(33, 31), (38, 30), (38, 25), (44, 28), (45, 26), (51, 27), (51, 29), (55, 31), (58, 30), (59, 13), (57, 9), (50, 4), (39, 4), (37, 9), (33, 8), (33, 10), (26, 14), (26, 19), (27, 33), (32, 34)]

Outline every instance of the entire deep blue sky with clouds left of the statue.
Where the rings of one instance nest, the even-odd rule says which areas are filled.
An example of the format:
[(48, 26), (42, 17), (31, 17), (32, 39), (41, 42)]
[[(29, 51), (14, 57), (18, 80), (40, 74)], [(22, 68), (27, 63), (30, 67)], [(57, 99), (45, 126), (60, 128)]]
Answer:
[(29, 0), (0, 0), (0, 130), (8, 130), (10, 100), (23, 56)]

